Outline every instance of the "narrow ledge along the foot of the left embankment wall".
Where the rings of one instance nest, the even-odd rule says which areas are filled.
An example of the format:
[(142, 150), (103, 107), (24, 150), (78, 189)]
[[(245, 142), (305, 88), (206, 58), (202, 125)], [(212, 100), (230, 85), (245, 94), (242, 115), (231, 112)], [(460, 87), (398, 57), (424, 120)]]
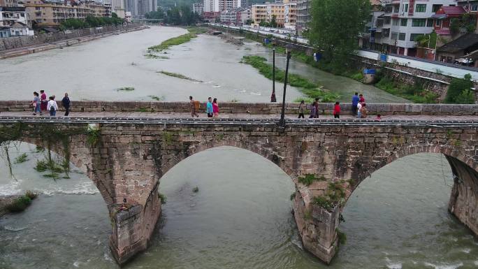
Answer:
[(1, 50), (0, 51), (0, 59), (8, 59), (12, 57), (18, 57), (26, 54), (32, 54), (32, 53), (37, 53), (37, 52), (43, 52), (45, 50), (54, 50), (57, 48), (64, 48), (64, 47), (69, 47), (71, 45), (76, 45), (80, 43), (85, 43), (88, 41), (94, 41), (99, 38), (107, 37), (107, 36), (113, 36), (117, 34), (124, 34), (128, 33), (131, 31), (140, 31), (143, 29), (147, 29), (148, 27), (144, 25), (138, 25), (137, 27), (133, 28), (126, 28), (126, 29), (119, 29), (119, 30), (114, 30), (114, 31), (108, 31), (104, 33), (99, 33), (99, 34), (92, 34), (89, 36), (81, 36), (81, 37), (76, 37), (76, 38), (69, 38), (65, 39), (63, 41), (57, 41), (55, 43), (43, 43), (43, 44), (38, 44), (38, 45), (31, 45), (28, 47), (23, 47), (23, 48), (15, 48), (12, 50)]

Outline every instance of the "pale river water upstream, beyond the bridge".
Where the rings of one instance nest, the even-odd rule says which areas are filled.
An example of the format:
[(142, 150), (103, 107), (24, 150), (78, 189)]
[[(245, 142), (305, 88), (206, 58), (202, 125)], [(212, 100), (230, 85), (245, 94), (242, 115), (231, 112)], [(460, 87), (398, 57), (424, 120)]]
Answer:
[[(219, 101), (270, 101), (271, 80), (252, 66), (240, 64), (242, 56), (259, 54), (271, 59), (271, 50), (259, 43), (231, 45), (216, 36), (200, 35), (189, 43), (175, 46), (161, 56), (147, 59), (146, 49), (173, 36), (187, 33), (174, 27), (151, 27), (143, 31), (101, 38), (61, 50), (29, 54), (0, 61), (0, 89), (6, 100), (31, 99), (34, 91), (45, 89), (48, 95), (68, 92), (75, 100), (187, 101), (208, 96)], [(271, 61), (271, 60), (270, 60)], [(285, 58), (277, 55), (277, 66), (285, 69)], [(198, 81), (173, 78), (158, 71), (180, 73)], [(370, 103), (403, 103), (405, 99), (360, 82), (335, 76), (291, 61), (291, 72), (318, 81), (326, 89), (338, 92), (339, 101), (349, 101), (353, 92), (361, 92)], [(133, 87), (131, 92), (118, 91)], [(277, 83), (277, 96), (282, 95)], [(302, 94), (288, 87), (287, 101)]]

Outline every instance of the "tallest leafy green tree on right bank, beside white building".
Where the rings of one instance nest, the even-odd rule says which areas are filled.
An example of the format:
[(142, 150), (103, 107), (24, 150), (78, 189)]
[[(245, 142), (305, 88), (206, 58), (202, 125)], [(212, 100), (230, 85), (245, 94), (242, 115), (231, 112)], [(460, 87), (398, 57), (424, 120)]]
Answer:
[(349, 54), (359, 48), (359, 34), (370, 17), (369, 0), (312, 1), (312, 22), (308, 37), (314, 47), (323, 50), (323, 59), (335, 73), (347, 65)]

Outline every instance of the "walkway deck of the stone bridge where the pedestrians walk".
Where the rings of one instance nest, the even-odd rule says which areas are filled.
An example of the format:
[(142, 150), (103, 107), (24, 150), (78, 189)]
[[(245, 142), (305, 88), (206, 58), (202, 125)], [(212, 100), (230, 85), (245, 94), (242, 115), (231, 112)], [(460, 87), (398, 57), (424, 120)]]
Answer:
[[(47, 113), (48, 114), (48, 113)], [(206, 115), (200, 114), (198, 118), (191, 118), (189, 113), (175, 112), (71, 112), (70, 117), (63, 117), (64, 112), (59, 111), (57, 117), (32, 115), (31, 112), (1, 112), (0, 122), (129, 122), (129, 123), (255, 123), (273, 124), (280, 119), (280, 115), (251, 115), (251, 114), (221, 114), (219, 118), (208, 119)], [(318, 119), (298, 119), (297, 115), (286, 115), (287, 122), (294, 124), (340, 124), (354, 122), (354, 124), (465, 124), (478, 126), (478, 116), (433, 116), (433, 115), (386, 115), (381, 121), (376, 116), (369, 116), (367, 119), (357, 119), (352, 115), (341, 115), (340, 119), (333, 119), (332, 115), (320, 115)]]

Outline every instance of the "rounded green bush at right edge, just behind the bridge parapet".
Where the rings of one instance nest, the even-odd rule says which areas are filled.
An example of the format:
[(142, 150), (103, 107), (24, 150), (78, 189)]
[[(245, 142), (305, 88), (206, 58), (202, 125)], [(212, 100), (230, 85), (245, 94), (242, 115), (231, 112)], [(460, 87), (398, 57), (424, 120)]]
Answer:
[(471, 91), (473, 82), (471, 75), (466, 74), (464, 78), (454, 78), (448, 86), (445, 103), (475, 103), (475, 93)]

